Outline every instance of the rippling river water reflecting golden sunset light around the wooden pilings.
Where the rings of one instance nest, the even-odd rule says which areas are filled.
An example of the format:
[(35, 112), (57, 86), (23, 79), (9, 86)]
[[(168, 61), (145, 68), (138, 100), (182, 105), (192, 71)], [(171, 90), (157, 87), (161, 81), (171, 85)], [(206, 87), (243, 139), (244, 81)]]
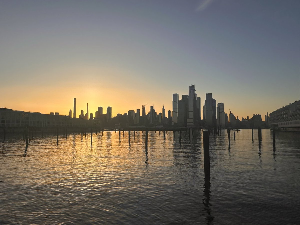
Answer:
[[(2, 138), (2, 136), (1, 136)], [(300, 134), (262, 130), (203, 140), (145, 132), (0, 142), (0, 224), (299, 224)]]

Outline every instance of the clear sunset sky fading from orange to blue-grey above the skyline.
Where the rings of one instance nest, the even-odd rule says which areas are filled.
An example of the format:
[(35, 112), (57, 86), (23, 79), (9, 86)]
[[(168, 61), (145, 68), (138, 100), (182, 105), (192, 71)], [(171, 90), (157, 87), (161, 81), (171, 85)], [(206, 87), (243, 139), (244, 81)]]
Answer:
[(0, 107), (161, 112), (192, 84), (239, 118), (299, 100), (300, 1), (0, 1)]

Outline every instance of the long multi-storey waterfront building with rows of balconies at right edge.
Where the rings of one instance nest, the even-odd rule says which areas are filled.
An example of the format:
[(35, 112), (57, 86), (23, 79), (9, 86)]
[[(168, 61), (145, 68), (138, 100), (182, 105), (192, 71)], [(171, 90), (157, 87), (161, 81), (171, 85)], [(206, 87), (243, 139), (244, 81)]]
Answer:
[(300, 100), (270, 113), (269, 126), (283, 131), (300, 131)]

